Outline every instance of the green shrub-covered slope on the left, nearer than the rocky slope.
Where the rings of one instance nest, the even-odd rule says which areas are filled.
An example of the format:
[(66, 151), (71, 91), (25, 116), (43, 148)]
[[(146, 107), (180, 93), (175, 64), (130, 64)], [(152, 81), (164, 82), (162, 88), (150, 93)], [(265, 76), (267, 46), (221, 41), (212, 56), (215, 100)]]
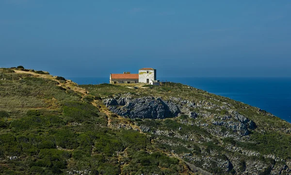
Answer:
[(15, 71), (0, 69), (0, 174), (189, 174), (76, 84)]

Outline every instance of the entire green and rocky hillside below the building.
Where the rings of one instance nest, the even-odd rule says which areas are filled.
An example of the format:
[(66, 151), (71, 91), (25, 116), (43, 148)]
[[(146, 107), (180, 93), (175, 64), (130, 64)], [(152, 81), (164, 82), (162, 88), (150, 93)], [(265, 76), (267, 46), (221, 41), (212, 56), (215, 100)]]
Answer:
[(0, 174), (291, 174), (291, 123), (178, 83), (0, 69)]

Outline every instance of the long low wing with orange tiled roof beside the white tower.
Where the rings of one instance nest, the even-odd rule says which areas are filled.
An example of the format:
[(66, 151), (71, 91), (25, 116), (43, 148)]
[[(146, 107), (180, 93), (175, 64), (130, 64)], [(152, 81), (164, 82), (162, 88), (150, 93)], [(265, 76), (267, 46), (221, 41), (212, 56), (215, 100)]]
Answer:
[(109, 82), (110, 84), (138, 83), (138, 74), (131, 74), (130, 72), (111, 73)]

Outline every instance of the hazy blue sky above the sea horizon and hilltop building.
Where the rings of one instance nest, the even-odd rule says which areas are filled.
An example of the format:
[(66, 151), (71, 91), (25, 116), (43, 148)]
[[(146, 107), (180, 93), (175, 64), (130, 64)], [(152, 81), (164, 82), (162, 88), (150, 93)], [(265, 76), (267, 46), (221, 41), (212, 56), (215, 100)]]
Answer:
[(290, 0), (0, 0), (0, 67), (291, 77)]

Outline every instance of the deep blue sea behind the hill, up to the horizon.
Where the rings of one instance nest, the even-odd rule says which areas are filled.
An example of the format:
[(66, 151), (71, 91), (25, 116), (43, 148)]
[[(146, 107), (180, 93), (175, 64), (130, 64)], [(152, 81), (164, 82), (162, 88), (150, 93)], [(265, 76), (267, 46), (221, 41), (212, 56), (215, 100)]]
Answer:
[[(158, 77), (159, 78), (159, 77)], [(109, 77), (68, 77), (78, 84), (109, 83)], [(291, 123), (291, 78), (159, 78), (257, 106)]]

